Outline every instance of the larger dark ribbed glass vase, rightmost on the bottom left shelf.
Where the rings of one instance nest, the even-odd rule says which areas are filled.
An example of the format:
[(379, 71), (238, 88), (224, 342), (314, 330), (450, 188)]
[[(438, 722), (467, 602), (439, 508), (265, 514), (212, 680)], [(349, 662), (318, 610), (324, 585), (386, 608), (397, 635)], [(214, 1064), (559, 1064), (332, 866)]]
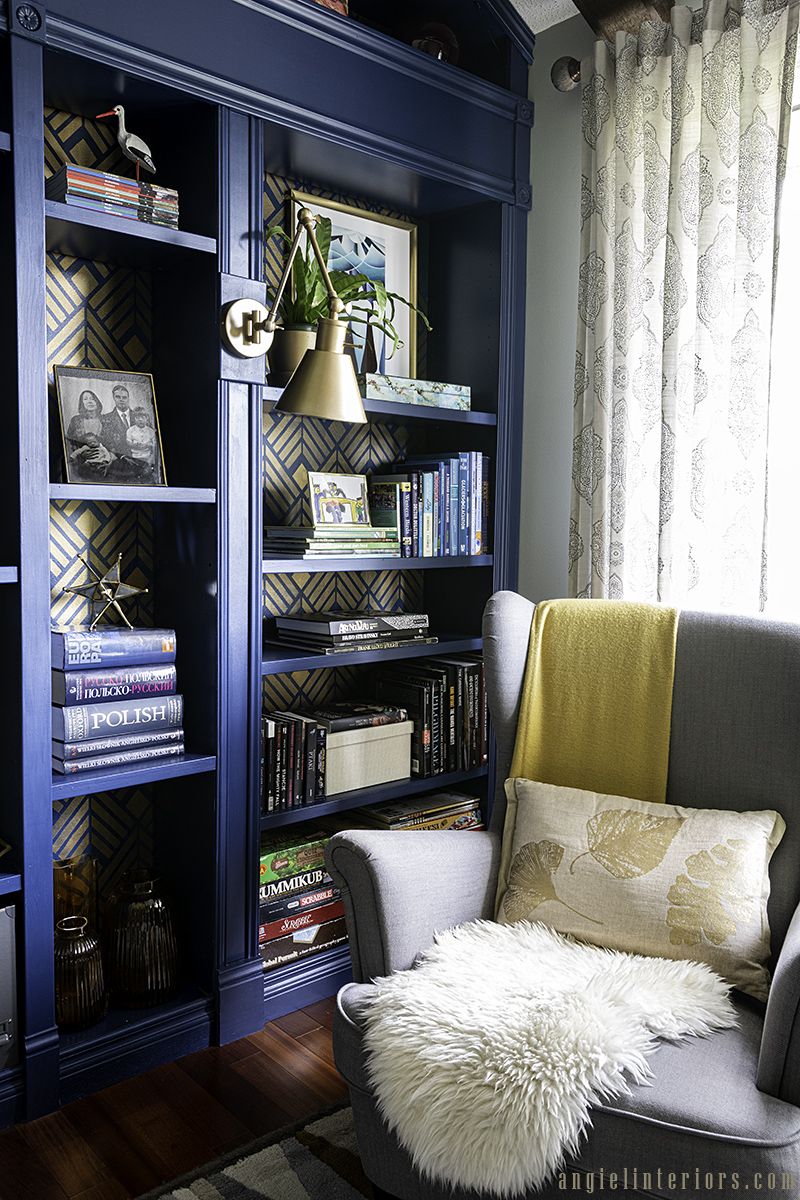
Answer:
[(173, 913), (157, 875), (137, 868), (122, 876), (106, 906), (103, 942), (116, 1008), (163, 1004), (180, 989)]

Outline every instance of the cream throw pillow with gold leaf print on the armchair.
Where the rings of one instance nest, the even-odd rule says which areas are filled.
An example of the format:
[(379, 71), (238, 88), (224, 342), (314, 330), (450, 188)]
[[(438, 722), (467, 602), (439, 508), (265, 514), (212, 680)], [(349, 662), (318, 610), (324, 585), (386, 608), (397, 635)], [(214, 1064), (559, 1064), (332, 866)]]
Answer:
[(769, 863), (778, 812), (649, 804), (506, 780), (501, 924), (540, 920), (633, 954), (705, 962), (769, 994)]

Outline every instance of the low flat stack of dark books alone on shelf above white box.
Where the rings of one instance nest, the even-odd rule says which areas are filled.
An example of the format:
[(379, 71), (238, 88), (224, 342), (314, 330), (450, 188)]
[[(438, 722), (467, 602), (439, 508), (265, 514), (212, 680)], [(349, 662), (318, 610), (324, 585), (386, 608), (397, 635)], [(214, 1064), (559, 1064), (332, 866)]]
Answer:
[(422, 612), (309, 612), (276, 617), (278, 641), (317, 654), (344, 654), (349, 650), (391, 650), (398, 647), (431, 646), (428, 617)]

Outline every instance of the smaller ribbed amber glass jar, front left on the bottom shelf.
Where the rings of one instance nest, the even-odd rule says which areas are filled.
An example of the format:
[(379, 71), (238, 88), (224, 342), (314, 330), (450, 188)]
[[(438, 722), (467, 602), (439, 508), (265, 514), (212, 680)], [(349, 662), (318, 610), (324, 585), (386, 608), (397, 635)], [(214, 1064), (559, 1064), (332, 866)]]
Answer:
[(108, 1012), (100, 940), (85, 917), (64, 917), (56, 923), (55, 1024), (59, 1028), (86, 1030)]

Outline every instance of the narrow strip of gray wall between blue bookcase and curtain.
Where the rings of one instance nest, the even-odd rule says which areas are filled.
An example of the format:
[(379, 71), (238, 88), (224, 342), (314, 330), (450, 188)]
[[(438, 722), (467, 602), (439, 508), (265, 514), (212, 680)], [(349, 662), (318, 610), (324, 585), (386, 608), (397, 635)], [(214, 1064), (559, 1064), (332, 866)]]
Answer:
[(536, 36), (528, 227), (528, 335), (523, 428), (519, 590), (529, 600), (567, 594), (572, 401), (581, 238), (581, 86), (557, 91), (551, 67), (591, 53), (573, 17)]

